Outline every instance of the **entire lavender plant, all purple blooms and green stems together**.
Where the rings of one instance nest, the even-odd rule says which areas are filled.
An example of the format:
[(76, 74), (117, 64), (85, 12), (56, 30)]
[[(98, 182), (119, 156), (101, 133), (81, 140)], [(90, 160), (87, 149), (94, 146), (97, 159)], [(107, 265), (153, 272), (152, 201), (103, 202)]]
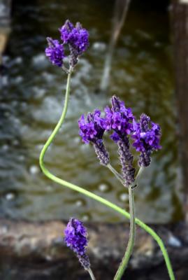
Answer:
[[(66, 20), (62, 28), (59, 29), (60, 37), (62, 41), (54, 40), (52, 38), (47, 38), (48, 48), (45, 49), (45, 54), (50, 59), (50, 62), (56, 66), (62, 67), (62, 69), (68, 75), (66, 84), (66, 94), (64, 100), (64, 108), (62, 111), (62, 116), (50, 135), (49, 139), (46, 141), (43, 149), (41, 151), (39, 163), (41, 169), (45, 176), (49, 179), (59, 183), (62, 186), (71, 188), (87, 197), (90, 197), (111, 209), (114, 209), (118, 213), (122, 214), (124, 217), (130, 219), (130, 238), (129, 243), (126, 248), (126, 253), (122, 260), (122, 263), (115, 275), (115, 279), (121, 279), (124, 269), (129, 261), (130, 255), (133, 250), (134, 236), (135, 236), (135, 223), (148, 232), (157, 241), (161, 252), (164, 255), (164, 260), (166, 262), (166, 267), (168, 269), (168, 274), (171, 280), (175, 279), (173, 274), (173, 269), (171, 267), (171, 261), (169, 260), (168, 253), (164, 246), (163, 241), (160, 237), (152, 230), (140, 221), (138, 218), (134, 217), (134, 207), (133, 207), (133, 188), (138, 184), (138, 177), (143, 171), (144, 167), (150, 165), (151, 154), (154, 150), (161, 148), (159, 146), (159, 139), (161, 137), (159, 125), (152, 123), (150, 118), (145, 114), (140, 116), (140, 120), (136, 121), (133, 116), (131, 109), (126, 109), (124, 102), (121, 102), (117, 97), (112, 98), (112, 107), (106, 107), (105, 118), (101, 118), (101, 112), (99, 110), (94, 111), (94, 113), (88, 113), (87, 118), (81, 116), (78, 121), (80, 127), (80, 136), (82, 140), (88, 144), (92, 143), (96, 151), (97, 158), (99, 162), (108, 167), (113, 174), (117, 177), (124, 187), (129, 188), (129, 210), (130, 214), (117, 207), (117, 205), (109, 202), (108, 200), (95, 195), (94, 193), (85, 190), (79, 186), (76, 186), (68, 181), (59, 179), (57, 176), (52, 174), (44, 165), (43, 159), (48, 147), (52, 143), (57, 132), (59, 131), (64, 119), (66, 117), (66, 111), (68, 109), (68, 98), (70, 93), (70, 83), (71, 75), (75, 69), (76, 64), (80, 55), (82, 55), (89, 46), (89, 34), (88, 31), (80, 25), (78, 22), (75, 27), (73, 24)], [(68, 55), (65, 53), (68, 52)], [(68, 61), (68, 62), (67, 62)], [(113, 131), (110, 136), (115, 143), (117, 143), (118, 153), (120, 157), (120, 163), (122, 165), (122, 174), (119, 174), (111, 165), (110, 157), (106, 147), (103, 143), (103, 134), (105, 132)], [(140, 166), (139, 171), (135, 177), (136, 169), (133, 167), (133, 155), (130, 151), (129, 139), (133, 140), (133, 147), (136, 151), (140, 153), (138, 165)], [(82, 265), (87, 269), (92, 279), (94, 275), (90, 270), (89, 259), (87, 258), (85, 248), (87, 246), (87, 235), (86, 230), (80, 221), (75, 218), (71, 218), (65, 231), (65, 241), (70, 248), (75, 251)], [(77, 243), (78, 242), (78, 243)], [(82, 259), (82, 257), (84, 257)]]

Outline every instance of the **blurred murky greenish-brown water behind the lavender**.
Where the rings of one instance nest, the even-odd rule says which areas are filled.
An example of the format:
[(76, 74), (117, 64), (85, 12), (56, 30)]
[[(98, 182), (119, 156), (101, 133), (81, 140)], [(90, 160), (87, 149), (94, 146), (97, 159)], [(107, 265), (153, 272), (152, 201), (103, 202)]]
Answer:
[[(99, 93), (110, 38), (114, 1), (16, 1), (12, 33), (4, 57), (0, 125), (0, 214), (32, 221), (77, 216), (83, 221), (124, 218), (45, 178), (38, 156), (62, 111), (66, 75), (45, 58), (45, 37), (57, 38), (66, 18), (89, 29), (90, 47), (71, 83), (66, 123), (45, 156), (57, 176), (128, 209), (128, 195), (93, 148), (78, 136), (78, 118), (103, 109), (117, 94), (138, 117), (145, 112), (162, 127), (162, 150), (153, 155), (136, 189), (136, 212), (146, 222), (166, 223), (182, 217), (180, 167), (173, 87), (172, 47), (166, 8), (131, 6), (113, 57), (108, 93)], [(120, 170), (116, 146), (106, 142)]]

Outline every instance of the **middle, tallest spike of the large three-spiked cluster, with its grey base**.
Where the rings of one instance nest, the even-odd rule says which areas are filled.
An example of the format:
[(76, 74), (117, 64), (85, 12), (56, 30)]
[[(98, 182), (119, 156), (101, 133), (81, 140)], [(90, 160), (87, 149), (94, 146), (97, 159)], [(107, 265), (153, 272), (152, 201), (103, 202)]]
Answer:
[(124, 185), (131, 186), (136, 170), (133, 168), (133, 155), (130, 153), (128, 135), (133, 130), (134, 116), (131, 109), (126, 108), (124, 102), (121, 102), (117, 97), (113, 96), (111, 102), (112, 108), (106, 107), (105, 109), (104, 127), (106, 130), (112, 129), (114, 131), (110, 138), (118, 146)]

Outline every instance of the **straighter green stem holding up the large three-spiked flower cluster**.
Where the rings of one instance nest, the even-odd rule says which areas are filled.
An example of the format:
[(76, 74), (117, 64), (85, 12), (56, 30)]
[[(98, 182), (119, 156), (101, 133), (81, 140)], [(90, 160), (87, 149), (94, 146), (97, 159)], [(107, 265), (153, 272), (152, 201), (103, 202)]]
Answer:
[(135, 241), (136, 226), (135, 226), (135, 214), (134, 214), (133, 189), (131, 188), (131, 186), (129, 186), (129, 211), (130, 211), (129, 242), (128, 242), (128, 245), (126, 247), (126, 252), (124, 254), (124, 258), (122, 258), (122, 262), (120, 264), (120, 267), (117, 269), (117, 273), (115, 274), (114, 280), (122, 279), (124, 271), (125, 271), (125, 269), (127, 267), (127, 264), (129, 262), (129, 258), (131, 257), (131, 254), (133, 252), (133, 246), (134, 246), (134, 241)]

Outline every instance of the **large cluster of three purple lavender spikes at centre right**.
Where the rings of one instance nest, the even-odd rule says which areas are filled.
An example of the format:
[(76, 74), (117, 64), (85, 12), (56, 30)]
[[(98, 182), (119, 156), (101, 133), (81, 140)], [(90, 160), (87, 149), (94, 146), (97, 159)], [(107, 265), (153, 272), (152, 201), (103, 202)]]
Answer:
[(137, 122), (130, 108), (126, 108), (124, 102), (117, 97), (112, 97), (112, 106), (107, 106), (105, 117), (101, 118), (101, 111), (95, 110), (88, 113), (87, 118), (81, 116), (78, 120), (80, 137), (88, 144), (94, 144), (96, 154), (103, 165), (110, 163), (108, 151), (103, 145), (104, 132), (113, 131), (110, 138), (117, 143), (124, 185), (131, 186), (134, 181), (136, 169), (133, 167), (133, 155), (130, 151), (129, 139), (133, 139), (133, 148), (140, 153), (138, 165), (147, 167), (151, 162), (153, 151), (159, 150), (161, 129), (156, 123), (152, 123), (145, 114), (140, 116)]

